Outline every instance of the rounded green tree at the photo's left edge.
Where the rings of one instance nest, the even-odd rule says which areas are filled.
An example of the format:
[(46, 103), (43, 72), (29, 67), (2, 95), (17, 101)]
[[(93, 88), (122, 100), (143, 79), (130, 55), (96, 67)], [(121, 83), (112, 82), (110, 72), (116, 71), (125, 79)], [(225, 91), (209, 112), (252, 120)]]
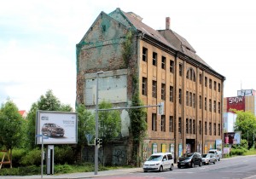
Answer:
[(8, 100), (0, 109), (0, 142), (10, 150), (10, 168), (12, 168), (12, 149), (19, 147), (23, 119), (13, 101)]

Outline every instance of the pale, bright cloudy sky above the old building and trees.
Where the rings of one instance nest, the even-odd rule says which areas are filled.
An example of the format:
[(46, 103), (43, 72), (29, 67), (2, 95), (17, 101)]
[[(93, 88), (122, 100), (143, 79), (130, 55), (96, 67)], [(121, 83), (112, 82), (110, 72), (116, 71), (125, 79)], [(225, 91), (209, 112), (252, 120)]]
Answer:
[(224, 97), (256, 90), (256, 5), (253, 0), (0, 0), (0, 104), (30, 110), (47, 90), (75, 107), (76, 44), (103, 11), (143, 17), (171, 29), (222, 74)]

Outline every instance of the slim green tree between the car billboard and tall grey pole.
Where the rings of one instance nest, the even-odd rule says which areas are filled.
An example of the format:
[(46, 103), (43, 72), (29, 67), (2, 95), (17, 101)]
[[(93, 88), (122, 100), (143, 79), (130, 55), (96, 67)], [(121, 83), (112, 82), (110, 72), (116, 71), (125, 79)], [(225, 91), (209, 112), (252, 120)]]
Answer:
[[(83, 104), (79, 104), (77, 107), (78, 113), (78, 145), (77, 145), (77, 154), (81, 153), (84, 145), (89, 143), (90, 141), (86, 140), (85, 135), (90, 134), (92, 136), (95, 135), (95, 117), (88, 110), (85, 109)], [(82, 153), (80, 154), (80, 161), (82, 160)]]

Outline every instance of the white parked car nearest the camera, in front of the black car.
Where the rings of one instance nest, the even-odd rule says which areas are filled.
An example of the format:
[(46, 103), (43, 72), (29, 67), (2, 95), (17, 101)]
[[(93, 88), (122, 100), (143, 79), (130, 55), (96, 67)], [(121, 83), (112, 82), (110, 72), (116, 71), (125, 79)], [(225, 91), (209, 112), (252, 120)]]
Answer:
[(172, 153), (154, 153), (144, 163), (143, 170), (173, 170), (173, 165)]

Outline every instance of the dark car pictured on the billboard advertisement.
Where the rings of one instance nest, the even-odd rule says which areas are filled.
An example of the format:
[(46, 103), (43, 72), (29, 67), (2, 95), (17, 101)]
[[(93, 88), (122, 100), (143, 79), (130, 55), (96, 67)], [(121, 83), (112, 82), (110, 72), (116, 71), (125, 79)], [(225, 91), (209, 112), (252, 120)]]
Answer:
[(54, 123), (45, 123), (42, 127), (44, 136), (64, 136), (65, 130)]

